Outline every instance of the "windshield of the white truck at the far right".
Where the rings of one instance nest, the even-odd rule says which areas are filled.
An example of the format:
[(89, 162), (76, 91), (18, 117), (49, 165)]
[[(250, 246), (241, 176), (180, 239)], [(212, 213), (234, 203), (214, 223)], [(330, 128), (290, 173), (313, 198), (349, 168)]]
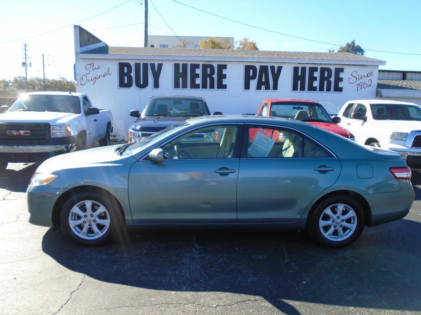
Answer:
[(406, 104), (370, 104), (375, 120), (421, 121), (421, 107)]

